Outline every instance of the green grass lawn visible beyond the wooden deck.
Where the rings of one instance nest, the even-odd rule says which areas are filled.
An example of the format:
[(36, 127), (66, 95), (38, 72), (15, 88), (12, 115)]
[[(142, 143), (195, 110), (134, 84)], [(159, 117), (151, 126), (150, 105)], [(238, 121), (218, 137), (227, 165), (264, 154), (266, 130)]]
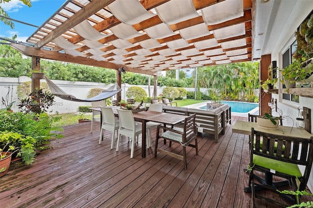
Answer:
[[(193, 99), (184, 99), (184, 100), (175, 100), (177, 102), (178, 107), (192, 105), (196, 103), (205, 102), (205, 100), (193, 100)], [(61, 114), (62, 119), (59, 122), (52, 123), (53, 127), (62, 127), (68, 126), (78, 123), (78, 115), (77, 114)], [(91, 119), (91, 114), (85, 115), (87, 119)]]

